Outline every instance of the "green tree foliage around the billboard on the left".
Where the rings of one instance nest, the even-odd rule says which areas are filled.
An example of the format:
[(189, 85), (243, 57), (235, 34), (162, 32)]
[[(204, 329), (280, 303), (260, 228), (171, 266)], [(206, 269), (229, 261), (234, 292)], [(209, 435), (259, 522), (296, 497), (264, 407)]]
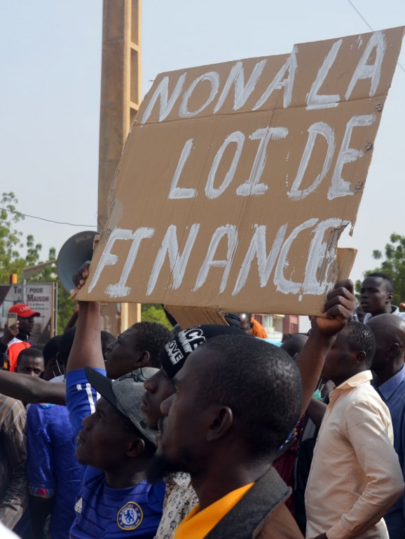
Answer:
[[(18, 223), (24, 220), (24, 215), (17, 210), (18, 199), (13, 192), (3, 193), (0, 209), (0, 283), (8, 283), (11, 274), (17, 274), (18, 282), (22, 282), (22, 270), (43, 262), (53, 262), (41, 267), (27, 279), (27, 282), (51, 283), (57, 281), (57, 328), (62, 333), (64, 326), (74, 311), (74, 301), (64, 290), (57, 279), (56, 251), (52, 247), (47, 260), (41, 260), (42, 245), (36, 244), (32, 234), (26, 238), (18, 229)], [(21, 250), (25, 248), (25, 255)]]

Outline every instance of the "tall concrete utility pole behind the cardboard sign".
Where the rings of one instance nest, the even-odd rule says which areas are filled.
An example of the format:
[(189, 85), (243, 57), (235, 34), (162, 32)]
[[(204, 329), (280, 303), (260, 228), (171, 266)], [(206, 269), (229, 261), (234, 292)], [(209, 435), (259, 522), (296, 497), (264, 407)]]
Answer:
[[(109, 215), (109, 189), (141, 102), (142, 0), (104, 0), (97, 227)], [(141, 319), (140, 304), (104, 305), (105, 329), (117, 334)]]

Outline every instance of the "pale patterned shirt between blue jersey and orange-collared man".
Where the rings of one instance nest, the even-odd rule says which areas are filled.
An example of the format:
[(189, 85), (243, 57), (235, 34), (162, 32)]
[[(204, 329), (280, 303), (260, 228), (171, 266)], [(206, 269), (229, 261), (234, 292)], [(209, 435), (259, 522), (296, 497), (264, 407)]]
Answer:
[(198, 498), (191, 486), (188, 474), (177, 472), (165, 479), (165, 483), (163, 517), (160, 520), (155, 539), (170, 539), (173, 531), (186, 517), (186, 514), (198, 504)]

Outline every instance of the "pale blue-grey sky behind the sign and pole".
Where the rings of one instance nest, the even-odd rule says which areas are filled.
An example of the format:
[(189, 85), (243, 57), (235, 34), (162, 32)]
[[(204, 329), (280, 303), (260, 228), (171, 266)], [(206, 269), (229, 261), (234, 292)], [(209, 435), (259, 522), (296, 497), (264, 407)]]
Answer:
[[(355, 11), (359, 11), (361, 16)], [(144, 0), (143, 93), (172, 69), (279, 53), (295, 43), (404, 25), (404, 0)], [(26, 218), (25, 234), (59, 250), (95, 227), (102, 44), (101, 0), (0, 0), (0, 182)], [(405, 234), (405, 53), (374, 145), (353, 237), (352, 279), (375, 267), (373, 249)]]

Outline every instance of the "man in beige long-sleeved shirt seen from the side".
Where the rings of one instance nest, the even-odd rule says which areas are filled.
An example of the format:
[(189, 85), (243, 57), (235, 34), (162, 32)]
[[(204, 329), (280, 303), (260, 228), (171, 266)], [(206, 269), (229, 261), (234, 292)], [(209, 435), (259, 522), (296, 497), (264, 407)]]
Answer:
[(404, 491), (390, 412), (370, 385), (373, 333), (350, 322), (327, 355), (333, 380), (306, 488), (308, 539), (388, 539), (383, 515)]

